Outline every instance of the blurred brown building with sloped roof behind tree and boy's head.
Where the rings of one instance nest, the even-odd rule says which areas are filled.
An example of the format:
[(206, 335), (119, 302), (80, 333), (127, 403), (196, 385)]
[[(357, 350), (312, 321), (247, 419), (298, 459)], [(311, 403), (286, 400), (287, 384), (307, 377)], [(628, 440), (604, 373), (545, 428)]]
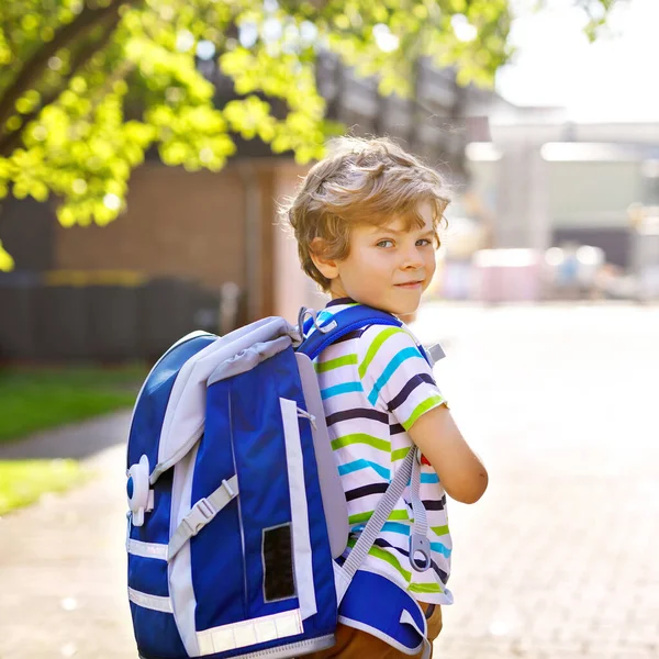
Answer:
[[(213, 60), (200, 62), (200, 69), (214, 82), (219, 105), (235, 98)], [(509, 108), (491, 92), (458, 87), (451, 70), (425, 60), (409, 100), (380, 97), (373, 80), (357, 78), (332, 56), (321, 58), (317, 82), (330, 119), (355, 134), (388, 134), (458, 182), (466, 179), (466, 144), (489, 141), (487, 116)], [(244, 292), (243, 320), (294, 320), (301, 303), (320, 301), (300, 271), (294, 242), (277, 224), (277, 203), (306, 168), (259, 141), (237, 145), (220, 172), (166, 167), (150, 154), (132, 176), (126, 213), (105, 227), (63, 228), (51, 204), (7, 200), (0, 237), (19, 271), (133, 271), (214, 290), (233, 282)]]

